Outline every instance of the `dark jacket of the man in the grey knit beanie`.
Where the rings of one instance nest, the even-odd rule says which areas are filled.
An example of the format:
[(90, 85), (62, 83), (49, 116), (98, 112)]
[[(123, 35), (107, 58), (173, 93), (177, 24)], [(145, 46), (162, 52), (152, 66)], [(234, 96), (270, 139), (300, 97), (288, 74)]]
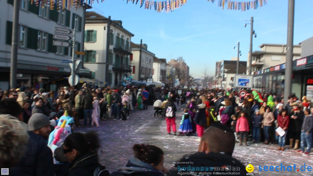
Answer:
[(46, 140), (32, 131), (28, 131), (29, 143), (26, 155), (13, 168), (9, 168), (13, 176), (53, 176), (52, 151)]

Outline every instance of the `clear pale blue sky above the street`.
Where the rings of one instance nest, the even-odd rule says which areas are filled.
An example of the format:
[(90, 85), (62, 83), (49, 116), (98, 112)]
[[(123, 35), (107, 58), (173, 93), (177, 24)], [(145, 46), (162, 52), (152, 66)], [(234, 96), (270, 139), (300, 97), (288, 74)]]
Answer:
[[(157, 1), (157, 0), (156, 0)], [(237, 0), (239, 2), (245, 2)], [(135, 36), (134, 43), (148, 45), (158, 58), (183, 57), (190, 75), (203, 78), (207, 68), (215, 74), (215, 63), (237, 57), (240, 42), (241, 61), (247, 61), (250, 44), (250, 23), (254, 17), (253, 51), (262, 43), (287, 43), (288, 0), (267, 0), (258, 9), (234, 11), (218, 7), (217, 1), (188, 0), (185, 5), (170, 13), (156, 13), (140, 8), (126, 0), (105, 0), (93, 3), (92, 9), (102, 16), (121, 20), (122, 25)], [(313, 0), (295, 1), (294, 44), (313, 36)]]

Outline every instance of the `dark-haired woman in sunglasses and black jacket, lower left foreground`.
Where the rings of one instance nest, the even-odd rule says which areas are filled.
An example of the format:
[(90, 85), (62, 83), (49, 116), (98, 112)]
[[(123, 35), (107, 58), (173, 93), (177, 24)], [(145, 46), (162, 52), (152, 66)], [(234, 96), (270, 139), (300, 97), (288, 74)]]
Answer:
[(66, 176), (93, 176), (95, 169), (101, 166), (97, 155), (100, 142), (95, 133), (72, 133), (63, 145), (64, 155), (70, 163)]

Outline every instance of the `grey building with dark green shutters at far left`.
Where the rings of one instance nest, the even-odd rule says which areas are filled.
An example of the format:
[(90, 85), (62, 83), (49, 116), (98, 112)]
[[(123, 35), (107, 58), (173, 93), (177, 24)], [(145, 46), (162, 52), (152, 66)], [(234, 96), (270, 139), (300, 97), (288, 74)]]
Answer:
[[(71, 59), (71, 48), (54, 46), (54, 28), (75, 28), (75, 51), (82, 51), (84, 44), (85, 10), (79, 8), (50, 10), (50, 6), (36, 6), (32, 1), (21, 0), (18, 26), (17, 86), (55, 90), (55, 82), (71, 73), (68, 63), (61, 60)], [(41, 4), (39, 4), (41, 5)], [(10, 55), (13, 25), (13, 0), (0, 1), (0, 88), (7, 89), (10, 78)], [(82, 55), (75, 54), (75, 59)], [(79, 73), (90, 76), (88, 73)], [(64, 82), (64, 84), (66, 84)], [(68, 84), (67, 84), (68, 85)]]

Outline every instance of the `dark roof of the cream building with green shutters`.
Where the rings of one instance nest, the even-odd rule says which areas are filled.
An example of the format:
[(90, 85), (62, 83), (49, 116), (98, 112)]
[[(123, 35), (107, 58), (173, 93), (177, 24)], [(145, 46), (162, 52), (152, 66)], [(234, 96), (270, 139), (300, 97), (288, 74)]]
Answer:
[[(85, 15), (85, 24), (86, 23), (108, 23), (109, 18), (106, 18), (98, 13), (95, 12), (86, 12)], [(134, 36), (131, 32), (123, 28), (122, 21), (121, 20), (111, 20), (111, 25), (113, 25), (116, 28), (119, 28), (120, 30), (128, 33), (130, 36)]]

